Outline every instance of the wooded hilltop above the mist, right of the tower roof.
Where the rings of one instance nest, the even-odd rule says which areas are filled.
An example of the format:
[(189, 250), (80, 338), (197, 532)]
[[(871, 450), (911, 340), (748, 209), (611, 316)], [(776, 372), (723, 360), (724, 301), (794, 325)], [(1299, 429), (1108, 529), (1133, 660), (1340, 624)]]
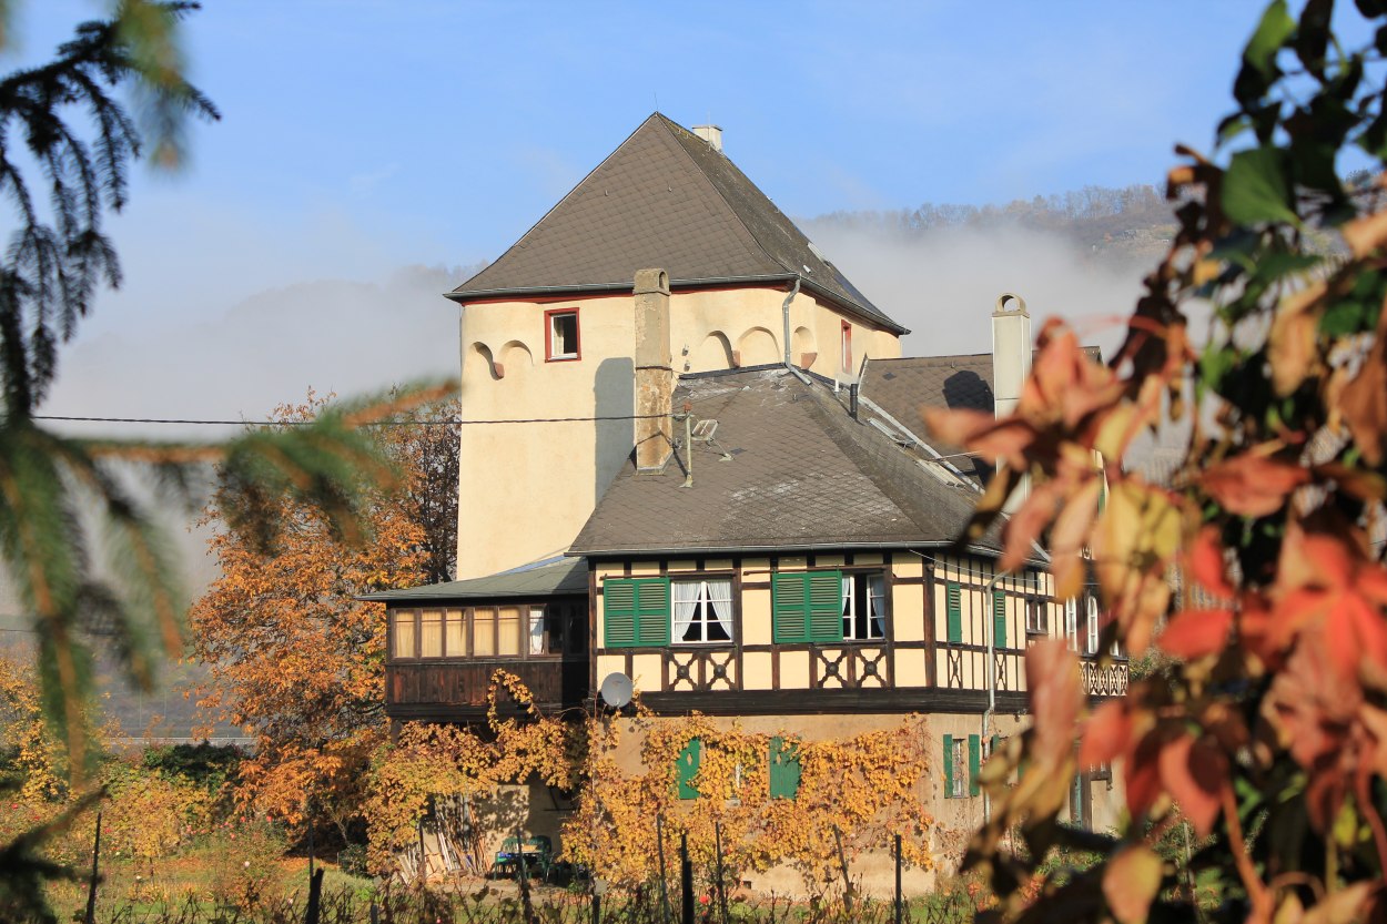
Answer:
[(1082, 251), (1115, 264), (1154, 265), (1175, 233), (1171, 204), (1154, 186), (1085, 186), (1058, 196), (1006, 205), (925, 203), (889, 211), (839, 211), (802, 219), (810, 237), (874, 233), (910, 240), (931, 232), (1024, 229), (1068, 239)]

